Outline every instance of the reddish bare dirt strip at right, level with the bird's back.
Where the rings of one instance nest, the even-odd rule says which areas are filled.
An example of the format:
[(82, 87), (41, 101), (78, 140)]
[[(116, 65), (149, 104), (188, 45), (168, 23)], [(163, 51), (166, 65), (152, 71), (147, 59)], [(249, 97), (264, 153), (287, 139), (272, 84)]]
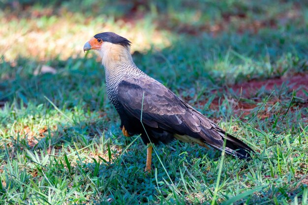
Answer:
[(251, 80), (242, 84), (237, 84), (231, 88), (235, 91), (241, 92), (243, 96), (249, 97), (255, 94), (260, 88), (265, 87), (266, 90), (274, 90), (275, 86), (280, 87), (282, 84), (286, 84), (289, 91), (297, 90), (296, 96), (308, 100), (308, 96), (303, 90), (308, 92), (308, 73), (299, 73), (294, 76), (283, 76), (279, 78), (273, 78), (268, 80)]

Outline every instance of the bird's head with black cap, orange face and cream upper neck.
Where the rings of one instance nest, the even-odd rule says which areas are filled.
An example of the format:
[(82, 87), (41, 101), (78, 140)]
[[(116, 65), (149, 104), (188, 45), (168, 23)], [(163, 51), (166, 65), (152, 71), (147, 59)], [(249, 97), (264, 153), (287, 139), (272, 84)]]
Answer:
[(103, 32), (94, 35), (84, 45), (84, 51), (97, 50), (102, 57), (103, 65), (107, 66), (109, 63), (131, 60), (130, 43), (114, 32)]

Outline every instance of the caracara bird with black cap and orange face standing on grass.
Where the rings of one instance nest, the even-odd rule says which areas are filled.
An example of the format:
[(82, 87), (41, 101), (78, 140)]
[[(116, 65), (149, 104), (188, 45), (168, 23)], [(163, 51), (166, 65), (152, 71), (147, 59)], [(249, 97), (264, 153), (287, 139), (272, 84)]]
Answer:
[(105, 69), (107, 95), (118, 112), (125, 137), (140, 135), (147, 145), (145, 172), (151, 172), (153, 144), (180, 140), (212, 146), (240, 159), (254, 151), (188, 105), (169, 88), (140, 70), (131, 42), (114, 32), (94, 35), (84, 52), (96, 50)]

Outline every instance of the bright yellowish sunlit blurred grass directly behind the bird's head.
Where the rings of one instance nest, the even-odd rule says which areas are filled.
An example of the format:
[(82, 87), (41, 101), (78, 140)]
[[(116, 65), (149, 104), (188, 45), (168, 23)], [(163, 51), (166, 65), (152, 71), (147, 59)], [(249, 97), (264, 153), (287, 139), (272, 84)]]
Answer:
[[(98, 32), (118, 31), (132, 42), (132, 52), (140, 52), (170, 45), (166, 31), (159, 31), (151, 21), (137, 24), (99, 15), (87, 17), (81, 13), (34, 18), (7, 18), (1, 15), (0, 49), (6, 60), (17, 57), (37, 60), (77, 58), (83, 54), (83, 45)], [(120, 31), (120, 32), (119, 32)]]

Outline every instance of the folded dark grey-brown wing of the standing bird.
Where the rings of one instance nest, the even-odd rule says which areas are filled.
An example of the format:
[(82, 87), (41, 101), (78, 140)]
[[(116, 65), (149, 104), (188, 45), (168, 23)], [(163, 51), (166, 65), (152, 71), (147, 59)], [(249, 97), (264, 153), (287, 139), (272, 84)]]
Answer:
[(142, 119), (148, 126), (201, 138), (212, 146), (223, 145), (223, 137), (218, 131), (220, 128), (214, 122), (152, 78), (139, 77), (122, 81), (118, 99), (126, 112)]

